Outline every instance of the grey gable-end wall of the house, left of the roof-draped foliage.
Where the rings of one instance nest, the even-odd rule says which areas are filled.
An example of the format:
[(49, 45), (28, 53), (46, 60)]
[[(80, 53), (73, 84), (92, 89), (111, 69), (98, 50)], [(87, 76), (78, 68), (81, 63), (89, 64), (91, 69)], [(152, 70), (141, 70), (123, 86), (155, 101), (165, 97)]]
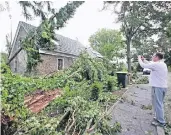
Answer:
[[(13, 56), (16, 51), (20, 48), (20, 40), (26, 37), (27, 33), (23, 27), (20, 27), (19, 34), (16, 37), (16, 42), (13, 46), (11, 56)], [(26, 53), (22, 50), (11, 62), (10, 67), (12, 72), (23, 74), (26, 71)]]

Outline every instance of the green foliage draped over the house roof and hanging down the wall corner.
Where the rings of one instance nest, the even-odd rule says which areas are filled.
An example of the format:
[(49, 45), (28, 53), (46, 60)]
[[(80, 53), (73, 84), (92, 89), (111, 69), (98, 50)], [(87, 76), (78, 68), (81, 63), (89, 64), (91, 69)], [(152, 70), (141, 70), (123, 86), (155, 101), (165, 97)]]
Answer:
[[(33, 36), (34, 35), (34, 36)], [(45, 20), (37, 31), (31, 32), (23, 41), (22, 48), (27, 52), (27, 72), (31, 72), (37, 66), (38, 62), (42, 62), (39, 48), (46, 48), (48, 50), (54, 49), (55, 32), (47, 20)]]

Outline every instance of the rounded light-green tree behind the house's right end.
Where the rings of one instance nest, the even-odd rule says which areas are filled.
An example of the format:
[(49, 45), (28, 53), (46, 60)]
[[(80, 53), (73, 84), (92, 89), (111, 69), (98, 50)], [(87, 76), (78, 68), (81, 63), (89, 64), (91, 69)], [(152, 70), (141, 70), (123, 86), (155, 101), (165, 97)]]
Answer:
[(112, 29), (100, 29), (89, 38), (93, 49), (109, 60), (119, 56), (119, 51), (124, 48), (121, 32)]

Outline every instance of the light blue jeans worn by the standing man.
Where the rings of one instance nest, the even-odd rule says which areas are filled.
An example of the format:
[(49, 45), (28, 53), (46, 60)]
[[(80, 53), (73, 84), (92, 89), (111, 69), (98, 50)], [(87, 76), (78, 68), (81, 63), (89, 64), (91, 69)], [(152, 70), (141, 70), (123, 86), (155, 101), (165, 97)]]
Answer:
[(167, 88), (152, 87), (152, 106), (156, 119), (161, 124), (165, 124), (164, 119), (164, 97)]

